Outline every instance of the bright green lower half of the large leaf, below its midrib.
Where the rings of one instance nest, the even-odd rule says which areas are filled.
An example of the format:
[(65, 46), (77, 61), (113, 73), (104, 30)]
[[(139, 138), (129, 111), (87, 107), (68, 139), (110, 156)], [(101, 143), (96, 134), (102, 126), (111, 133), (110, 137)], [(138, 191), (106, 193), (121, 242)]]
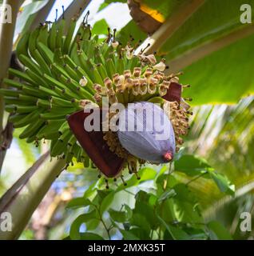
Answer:
[(232, 103), (254, 92), (254, 36), (241, 39), (185, 68), (181, 82), (192, 87), (186, 91), (193, 104)]

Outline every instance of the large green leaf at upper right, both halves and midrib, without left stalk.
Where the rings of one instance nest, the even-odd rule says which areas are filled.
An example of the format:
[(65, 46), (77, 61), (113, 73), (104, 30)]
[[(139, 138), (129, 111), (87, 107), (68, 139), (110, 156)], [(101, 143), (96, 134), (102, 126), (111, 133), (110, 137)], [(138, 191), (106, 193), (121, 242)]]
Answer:
[[(169, 71), (184, 69), (181, 82), (192, 85), (186, 94), (194, 98), (193, 105), (237, 102), (254, 92), (249, 76), (254, 67), (254, 37), (240, 39), (252, 26), (240, 22), (240, 6), (252, 3), (205, 1), (161, 47), (160, 52), (169, 59)], [(219, 42), (219, 38), (224, 39)], [(224, 44), (228, 46), (220, 50)]]

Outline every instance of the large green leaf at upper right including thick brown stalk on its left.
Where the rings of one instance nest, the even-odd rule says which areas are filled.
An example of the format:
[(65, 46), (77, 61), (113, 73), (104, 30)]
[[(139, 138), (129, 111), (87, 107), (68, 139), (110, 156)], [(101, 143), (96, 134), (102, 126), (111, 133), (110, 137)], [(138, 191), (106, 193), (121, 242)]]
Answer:
[[(185, 71), (181, 82), (192, 85), (185, 92), (193, 98), (192, 105), (234, 103), (254, 93), (254, 81), (249, 75), (254, 67), (254, 27), (240, 22), (240, 6), (252, 6), (252, 0), (204, 0), (193, 6), (189, 1), (177, 0), (140, 2), (166, 18), (148, 39), (151, 46), (147, 52), (157, 50), (158, 55), (164, 55), (169, 73)], [(123, 31), (132, 27), (129, 24)]]

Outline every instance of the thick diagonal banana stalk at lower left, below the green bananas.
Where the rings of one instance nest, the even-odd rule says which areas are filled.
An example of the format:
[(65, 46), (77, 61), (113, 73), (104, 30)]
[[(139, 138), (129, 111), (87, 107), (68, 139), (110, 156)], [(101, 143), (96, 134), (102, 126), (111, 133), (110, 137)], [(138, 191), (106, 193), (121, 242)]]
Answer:
[(50, 152), (47, 152), (6, 191), (0, 199), (0, 215), (10, 213), (12, 225), (11, 231), (0, 230), (0, 240), (17, 239), (22, 234), (34, 210), (64, 166), (63, 160), (50, 162)]

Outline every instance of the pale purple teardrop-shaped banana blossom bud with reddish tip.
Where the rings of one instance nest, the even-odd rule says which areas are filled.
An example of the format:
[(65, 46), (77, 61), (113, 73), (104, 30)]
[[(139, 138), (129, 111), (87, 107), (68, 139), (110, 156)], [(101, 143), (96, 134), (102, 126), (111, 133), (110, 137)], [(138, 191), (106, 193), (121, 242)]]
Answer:
[(160, 106), (151, 102), (129, 104), (119, 114), (117, 135), (121, 146), (152, 163), (169, 162), (175, 154), (173, 126)]

